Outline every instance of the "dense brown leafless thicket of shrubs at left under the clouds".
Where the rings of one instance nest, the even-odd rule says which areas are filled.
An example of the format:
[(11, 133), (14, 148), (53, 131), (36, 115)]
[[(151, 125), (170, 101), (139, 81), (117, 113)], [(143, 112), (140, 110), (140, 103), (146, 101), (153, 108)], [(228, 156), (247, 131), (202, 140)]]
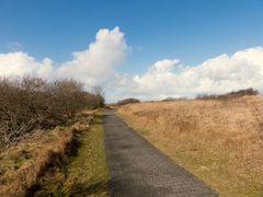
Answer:
[(0, 80), (0, 143), (16, 141), (37, 128), (65, 124), (85, 108), (104, 105), (101, 92), (89, 93), (73, 80)]

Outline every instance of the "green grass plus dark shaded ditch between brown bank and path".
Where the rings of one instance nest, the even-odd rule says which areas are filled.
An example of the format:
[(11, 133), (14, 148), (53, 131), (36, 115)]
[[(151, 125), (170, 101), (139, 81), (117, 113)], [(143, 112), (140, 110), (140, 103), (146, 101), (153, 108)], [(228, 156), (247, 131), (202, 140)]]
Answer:
[(96, 113), (89, 128), (76, 135), (77, 149), (68, 162), (54, 159), (53, 165), (31, 188), (34, 192), (31, 196), (107, 196), (108, 177), (100, 114)]

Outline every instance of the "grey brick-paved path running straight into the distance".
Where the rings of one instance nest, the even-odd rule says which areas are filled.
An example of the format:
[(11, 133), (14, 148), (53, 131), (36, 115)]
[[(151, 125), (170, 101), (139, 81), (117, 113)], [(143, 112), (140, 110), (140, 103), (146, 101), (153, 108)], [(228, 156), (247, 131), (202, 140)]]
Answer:
[(111, 196), (217, 196), (137, 135), (112, 111), (104, 115), (104, 130)]

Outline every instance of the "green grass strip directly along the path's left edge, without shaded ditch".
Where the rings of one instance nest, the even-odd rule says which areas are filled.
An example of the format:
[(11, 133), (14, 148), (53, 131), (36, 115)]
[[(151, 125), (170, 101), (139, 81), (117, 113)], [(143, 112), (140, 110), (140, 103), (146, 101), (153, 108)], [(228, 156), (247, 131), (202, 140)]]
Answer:
[(107, 196), (108, 173), (104, 150), (102, 113), (82, 131), (76, 158), (67, 166), (61, 193), (69, 196)]

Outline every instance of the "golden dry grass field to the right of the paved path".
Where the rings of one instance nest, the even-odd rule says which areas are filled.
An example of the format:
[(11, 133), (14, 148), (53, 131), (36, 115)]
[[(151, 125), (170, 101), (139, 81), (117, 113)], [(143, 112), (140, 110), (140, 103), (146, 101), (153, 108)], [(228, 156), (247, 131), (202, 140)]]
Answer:
[(263, 97), (124, 105), (118, 115), (220, 196), (263, 196)]

